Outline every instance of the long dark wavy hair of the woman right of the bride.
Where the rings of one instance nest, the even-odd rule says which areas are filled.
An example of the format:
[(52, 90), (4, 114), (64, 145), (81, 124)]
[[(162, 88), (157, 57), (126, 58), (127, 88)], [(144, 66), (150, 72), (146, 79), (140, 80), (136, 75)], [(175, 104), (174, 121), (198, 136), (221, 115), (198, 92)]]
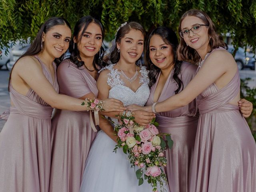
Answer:
[(182, 89), (183, 89), (182, 80), (181, 80), (181, 78), (179, 78), (179, 74), (181, 74), (180, 70), (181, 70), (182, 62), (178, 61), (178, 59), (177, 59), (176, 49), (178, 46), (178, 38), (177, 38), (175, 32), (168, 27), (159, 26), (159, 27), (155, 28), (152, 32), (150, 32), (150, 34), (148, 35), (148, 39), (147, 39), (147, 43), (146, 43), (146, 60), (147, 60), (148, 69), (149, 69), (149, 74), (148, 74), (148, 77), (150, 79), (149, 86), (152, 87), (156, 83), (156, 76), (160, 72), (160, 68), (158, 68), (157, 66), (155, 66), (152, 63), (150, 56), (149, 56), (150, 39), (152, 38), (153, 35), (159, 35), (166, 44), (168, 44), (172, 47), (172, 52), (173, 52), (173, 56), (174, 56), (173, 79), (176, 81), (176, 83), (178, 85), (178, 88), (175, 90), (175, 94), (177, 94), (178, 92), (182, 91)]

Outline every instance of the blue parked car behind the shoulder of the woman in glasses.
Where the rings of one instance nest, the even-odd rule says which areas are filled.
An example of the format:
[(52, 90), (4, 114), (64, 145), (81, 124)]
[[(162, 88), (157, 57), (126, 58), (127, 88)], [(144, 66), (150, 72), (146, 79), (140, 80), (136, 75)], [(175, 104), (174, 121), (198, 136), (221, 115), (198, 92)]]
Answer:
[[(231, 54), (234, 51), (233, 45), (228, 45), (228, 52)], [(236, 64), (238, 66), (239, 70), (242, 70), (243, 68), (250, 68), (252, 70), (255, 70), (255, 54), (246, 52), (244, 48), (238, 47), (238, 50), (236, 51), (236, 55), (234, 56), (234, 59), (236, 61)]]

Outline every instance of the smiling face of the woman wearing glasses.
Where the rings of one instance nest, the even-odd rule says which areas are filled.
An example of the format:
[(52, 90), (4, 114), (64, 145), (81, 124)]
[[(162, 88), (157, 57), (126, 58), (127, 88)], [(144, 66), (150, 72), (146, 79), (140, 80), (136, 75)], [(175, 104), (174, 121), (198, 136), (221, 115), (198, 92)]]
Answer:
[[(190, 30), (198, 24), (205, 24), (200, 18), (195, 16), (186, 16), (181, 23), (181, 30)], [(207, 50), (209, 44), (208, 27), (202, 26), (201, 31), (193, 33), (191, 30), (188, 35), (184, 36), (184, 41), (188, 46), (200, 52)]]

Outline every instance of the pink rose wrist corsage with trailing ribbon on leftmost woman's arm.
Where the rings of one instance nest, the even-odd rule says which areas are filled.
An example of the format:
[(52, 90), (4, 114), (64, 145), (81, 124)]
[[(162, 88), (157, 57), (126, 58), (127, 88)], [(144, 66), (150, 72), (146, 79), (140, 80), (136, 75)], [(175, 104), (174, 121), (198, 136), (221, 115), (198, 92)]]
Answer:
[(87, 109), (90, 110), (90, 124), (92, 127), (92, 130), (94, 132), (97, 132), (96, 127), (94, 126), (93, 120), (92, 120), (92, 110), (94, 110), (94, 119), (95, 119), (95, 125), (100, 124), (100, 119), (99, 119), (99, 111), (104, 110), (103, 106), (105, 105), (104, 101), (98, 100), (98, 99), (85, 99), (85, 102), (82, 102), (81, 105), (86, 105), (87, 104)]

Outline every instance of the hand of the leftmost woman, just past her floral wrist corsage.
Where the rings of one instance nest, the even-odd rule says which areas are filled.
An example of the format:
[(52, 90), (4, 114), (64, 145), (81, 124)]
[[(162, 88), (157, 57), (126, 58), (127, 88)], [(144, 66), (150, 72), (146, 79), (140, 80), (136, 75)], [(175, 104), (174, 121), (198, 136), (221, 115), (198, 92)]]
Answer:
[(118, 99), (107, 98), (102, 101), (105, 102), (105, 105), (103, 106), (104, 112), (122, 112), (126, 110), (124, 104)]

